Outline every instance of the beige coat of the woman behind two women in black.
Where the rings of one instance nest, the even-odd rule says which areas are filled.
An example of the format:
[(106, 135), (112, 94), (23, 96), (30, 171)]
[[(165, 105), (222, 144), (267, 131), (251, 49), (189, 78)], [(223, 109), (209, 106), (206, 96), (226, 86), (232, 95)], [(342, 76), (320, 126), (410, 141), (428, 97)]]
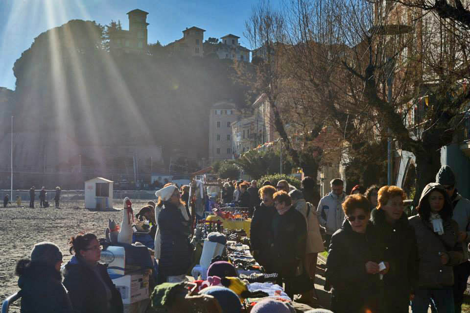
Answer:
[(315, 212), (315, 208), (305, 199), (298, 199), (295, 203), (295, 209), (305, 217), (307, 225), (307, 241), (305, 243), (305, 253), (318, 253), (325, 251), (322, 235), (320, 234), (320, 224)]

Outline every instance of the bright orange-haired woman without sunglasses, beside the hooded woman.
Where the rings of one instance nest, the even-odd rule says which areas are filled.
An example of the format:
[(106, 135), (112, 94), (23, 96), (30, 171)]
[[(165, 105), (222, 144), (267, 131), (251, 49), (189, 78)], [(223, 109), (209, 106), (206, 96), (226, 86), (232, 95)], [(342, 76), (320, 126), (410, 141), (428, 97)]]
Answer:
[(384, 276), (384, 307), (390, 313), (408, 313), (416, 283), (418, 250), (413, 227), (403, 213), (404, 191), (384, 186), (378, 191), (378, 206), (372, 210), (377, 248), (390, 271)]

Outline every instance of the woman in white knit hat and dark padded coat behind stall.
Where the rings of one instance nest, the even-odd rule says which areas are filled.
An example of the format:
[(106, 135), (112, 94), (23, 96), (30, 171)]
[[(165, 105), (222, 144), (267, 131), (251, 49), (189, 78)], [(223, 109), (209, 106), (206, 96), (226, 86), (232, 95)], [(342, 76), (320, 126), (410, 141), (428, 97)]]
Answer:
[(159, 271), (169, 283), (183, 281), (191, 264), (188, 221), (183, 217), (180, 193), (175, 186), (167, 186), (160, 191), (159, 203), (162, 207), (158, 216), (160, 230)]

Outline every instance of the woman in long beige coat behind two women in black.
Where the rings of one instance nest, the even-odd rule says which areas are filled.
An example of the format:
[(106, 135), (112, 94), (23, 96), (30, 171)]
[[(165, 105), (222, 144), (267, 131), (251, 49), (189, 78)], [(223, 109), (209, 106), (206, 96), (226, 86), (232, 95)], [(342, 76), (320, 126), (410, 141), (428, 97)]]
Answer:
[[(318, 253), (325, 251), (316, 210), (312, 204), (305, 201), (304, 194), (300, 190), (293, 190), (289, 195), (292, 198), (292, 206), (305, 217), (307, 241), (305, 244), (304, 266), (310, 278), (315, 279)], [(299, 298), (304, 303), (311, 302), (311, 299), (311, 293), (302, 294)]]

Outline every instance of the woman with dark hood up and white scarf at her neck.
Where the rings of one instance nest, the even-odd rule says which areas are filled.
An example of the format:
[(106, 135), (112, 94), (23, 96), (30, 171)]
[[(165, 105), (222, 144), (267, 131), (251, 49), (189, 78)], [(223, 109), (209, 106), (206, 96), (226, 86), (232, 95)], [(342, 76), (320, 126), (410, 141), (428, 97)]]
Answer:
[(452, 219), (452, 204), (444, 186), (430, 183), (424, 187), (417, 207), (418, 215), (409, 221), (418, 242), (419, 270), (413, 313), (425, 313), (431, 299), (438, 313), (453, 313), (452, 266), (463, 254), (457, 251), (458, 224)]

